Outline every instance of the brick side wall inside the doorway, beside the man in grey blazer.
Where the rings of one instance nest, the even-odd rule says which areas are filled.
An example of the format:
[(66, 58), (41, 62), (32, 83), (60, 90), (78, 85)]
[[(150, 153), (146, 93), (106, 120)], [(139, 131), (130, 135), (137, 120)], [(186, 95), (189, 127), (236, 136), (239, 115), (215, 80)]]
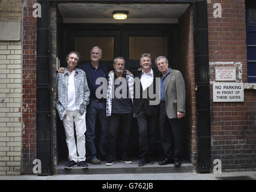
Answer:
[(193, 8), (187, 8), (178, 22), (180, 71), (186, 85), (186, 117), (184, 118), (184, 157), (197, 163), (197, 132), (195, 106), (195, 66)]

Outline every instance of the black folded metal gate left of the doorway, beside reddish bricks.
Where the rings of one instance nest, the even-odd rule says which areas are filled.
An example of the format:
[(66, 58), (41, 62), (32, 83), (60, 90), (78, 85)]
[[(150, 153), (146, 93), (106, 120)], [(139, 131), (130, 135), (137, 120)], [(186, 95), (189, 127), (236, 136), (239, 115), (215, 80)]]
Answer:
[(37, 159), (41, 173), (52, 172), (52, 63), (50, 33), (50, 3), (40, 2), (41, 17), (37, 17)]

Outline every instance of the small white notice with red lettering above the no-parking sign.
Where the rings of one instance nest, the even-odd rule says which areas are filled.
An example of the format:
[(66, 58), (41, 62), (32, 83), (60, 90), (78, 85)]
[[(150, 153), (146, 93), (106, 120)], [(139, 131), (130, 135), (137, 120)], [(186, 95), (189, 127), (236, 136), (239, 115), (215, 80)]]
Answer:
[(236, 67), (215, 67), (215, 80), (235, 81)]

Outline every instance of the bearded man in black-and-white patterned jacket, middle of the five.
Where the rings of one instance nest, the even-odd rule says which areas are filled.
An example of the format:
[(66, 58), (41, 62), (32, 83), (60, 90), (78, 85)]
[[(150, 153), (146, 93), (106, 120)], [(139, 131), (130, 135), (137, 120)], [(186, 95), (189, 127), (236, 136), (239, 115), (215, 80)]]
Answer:
[(127, 157), (130, 127), (133, 115), (133, 74), (124, 71), (124, 58), (114, 59), (113, 67), (108, 75), (108, 94), (106, 100), (106, 116), (109, 117), (108, 160), (106, 166), (112, 166), (116, 160), (115, 143), (120, 128), (119, 158), (123, 163), (132, 163)]

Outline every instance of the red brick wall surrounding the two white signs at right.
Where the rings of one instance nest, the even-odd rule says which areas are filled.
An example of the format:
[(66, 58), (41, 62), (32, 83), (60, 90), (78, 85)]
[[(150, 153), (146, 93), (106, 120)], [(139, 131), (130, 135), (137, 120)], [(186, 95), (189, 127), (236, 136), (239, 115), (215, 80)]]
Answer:
[[(237, 82), (247, 82), (244, 0), (212, 0), (208, 4), (210, 82), (216, 66), (237, 68)], [(222, 17), (214, 18), (213, 5), (221, 3)], [(210, 87), (212, 95), (212, 86)], [(245, 89), (243, 103), (213, 103), (212, 161), (220, 159), (227, 171), (256, 170), (256, 92)]]

